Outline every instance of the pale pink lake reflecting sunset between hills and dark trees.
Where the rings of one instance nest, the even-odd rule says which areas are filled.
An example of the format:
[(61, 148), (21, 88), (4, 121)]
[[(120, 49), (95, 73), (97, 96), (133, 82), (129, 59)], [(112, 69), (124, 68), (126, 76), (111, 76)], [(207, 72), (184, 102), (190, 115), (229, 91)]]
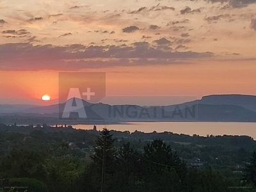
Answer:
[[(73, 125), (76, 129), (92, 129), (93, 125)], [(97, 125), (102, 130), (105, 125)], [(178, 134), (212, 135), (247, 135), (256, 138), (256, 123), (247, 122), (131, 122), (129, 124), (106, 125), (108, 129), (117, 131), (141, 132), (173, 132)]]

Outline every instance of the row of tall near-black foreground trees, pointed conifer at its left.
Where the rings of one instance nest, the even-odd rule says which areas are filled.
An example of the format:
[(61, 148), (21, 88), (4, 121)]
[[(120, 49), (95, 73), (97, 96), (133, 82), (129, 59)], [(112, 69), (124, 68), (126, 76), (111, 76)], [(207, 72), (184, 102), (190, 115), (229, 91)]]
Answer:
[(163, 140), (148, 143), (142, 154), (130, 143), (115, 150), (104, 129), (96, 143), (93, 162), (76, 191), (255, 191), (252, 184), (225, 178), (208, 164), (202, 169), (187, 166)]

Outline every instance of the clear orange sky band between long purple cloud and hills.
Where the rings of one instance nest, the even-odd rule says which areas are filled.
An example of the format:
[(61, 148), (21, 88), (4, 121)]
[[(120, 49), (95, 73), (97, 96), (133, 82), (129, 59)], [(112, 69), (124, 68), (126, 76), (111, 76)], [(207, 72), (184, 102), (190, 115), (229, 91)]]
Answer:
[[(180, 95), (198, 99), (211, 94), (256, 95), (256, 65), (248, 62), (243, 70), (240, 65), (206, 61), (197, 65), (105, 68), (106, 95)], [(40, 98), (45, 93), (52, 97), (45, 104), (58, 102), (58, 71), (1, 71), (0, 76), (5, 79), (0, 83), (3, 103), (44, 104)]]

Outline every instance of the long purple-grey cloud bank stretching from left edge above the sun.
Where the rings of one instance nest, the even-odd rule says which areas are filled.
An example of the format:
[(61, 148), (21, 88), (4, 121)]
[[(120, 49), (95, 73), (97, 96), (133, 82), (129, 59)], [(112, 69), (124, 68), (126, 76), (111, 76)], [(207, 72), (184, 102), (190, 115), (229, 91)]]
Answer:
[[(80, 70), (122, 65), (156, 65), (212, 57), (212, 52), (173, 52), (165, 45), (152, 47), (148, 42), (131, 45), (67, 46), (3, 44), (0, 45), (0, 70)], [(104, 58), (104, 60), (100, 59)], [(179, 63), (179, 62), (178, 62)]]

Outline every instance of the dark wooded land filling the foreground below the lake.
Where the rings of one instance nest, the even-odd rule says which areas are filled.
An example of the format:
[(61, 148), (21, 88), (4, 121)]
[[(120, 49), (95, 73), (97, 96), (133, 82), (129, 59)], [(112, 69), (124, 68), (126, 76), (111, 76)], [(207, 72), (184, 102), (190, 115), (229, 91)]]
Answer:
[[(236, 153), (231, 152), (230, 145), (227, 148), (196, 143), (181, 145), (163, 141), (162, 137), (156, 139), (156, 133), (149, 134), (151, 141), (116, 134), (120, 132), (108, 129), (72, 133), (0, 132), (0, 188), (8, 191), (9, 187), (20, 186), (11, 190), (22, 192), (256, 191), (256, 153), (250, 159), (247, 150), (235, 148)], [(232, 141), (231, 136), (229, 139)], [(250, 142), (254, 144), (253, 140)], [(203, 159), (204, 164), (191, 166), (188, 159), (194, 156)], [(243, 174), (234, 177), (230, 175), (232, 172), (223, 172), (226, 165), (243, 162), (245, 156), (247, 166), (239, 168)], [(228, 161), (228, 157), (232, 160)]]

